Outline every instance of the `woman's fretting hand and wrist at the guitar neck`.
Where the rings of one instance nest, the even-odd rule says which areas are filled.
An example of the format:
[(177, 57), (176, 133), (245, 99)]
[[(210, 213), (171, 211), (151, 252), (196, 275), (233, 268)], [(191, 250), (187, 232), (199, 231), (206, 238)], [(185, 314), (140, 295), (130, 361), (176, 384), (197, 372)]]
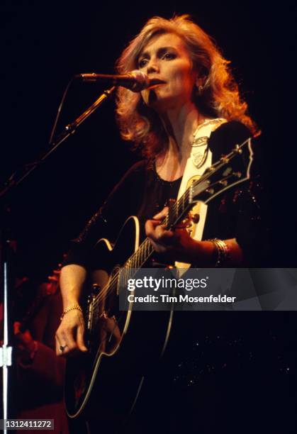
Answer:
[(209, 248), (213, 251), (212, 243), (194, 240), (186, 230), (186, 226), (182, 227), (181, 224), (179, 228), (174, 230), (166, 229), (161, 223), (167, 213), (168, 207), (165, 207), (154, 216), (153, 220), (148, 220), (145, 223), (145, 233), (150, 238), (155, 251), (166, 255), (168, 260), (189, 264), (199, 260), (204, 262), (204, 260), (209, 259)]

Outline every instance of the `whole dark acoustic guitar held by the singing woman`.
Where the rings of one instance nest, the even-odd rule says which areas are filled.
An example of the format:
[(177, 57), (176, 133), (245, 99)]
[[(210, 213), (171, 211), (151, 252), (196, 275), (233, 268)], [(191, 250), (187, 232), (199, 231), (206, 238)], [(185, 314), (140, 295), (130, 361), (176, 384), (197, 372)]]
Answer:
[[(193, 179), (181, 198), (169, 207), (162, 223), (174, 228), (197, 201), (213, 198), (250, 179), (253, 152), (245, 140)], [(164, 354), (174, 320), (167, 312), (119, 310), (119, 294), (128, 279), (147, 264), (154, 249), (150, 239), (140, 244), (138, 218), (125, 222), (115, 245), (101, 239), (96, 245), (104, 266), (94, 272), (93, 291), (84, 318), (88, 352), (69, 357), (66, 367), (65, 404), (70, 418), (95, 414), (110, 425), (121, 425), (138, 399), (142, 384)]]

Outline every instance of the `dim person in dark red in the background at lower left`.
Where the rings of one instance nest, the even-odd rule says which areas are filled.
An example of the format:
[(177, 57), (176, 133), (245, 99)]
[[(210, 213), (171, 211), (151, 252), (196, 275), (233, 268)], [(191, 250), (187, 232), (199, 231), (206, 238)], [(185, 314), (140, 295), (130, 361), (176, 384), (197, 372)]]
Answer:
[[(65, 360), (55, 355), (55, 330), (62, 314), (59, 276), (57, 269), (39, 286), (28, 279), (18, 286), (18, 321), (13, 323), (17, 383), (13, 395), (16, 418), (53, 419), (52, 432), (68, 434), (63, 402)], [(26, 313), (21, 315), (24, 304)]]

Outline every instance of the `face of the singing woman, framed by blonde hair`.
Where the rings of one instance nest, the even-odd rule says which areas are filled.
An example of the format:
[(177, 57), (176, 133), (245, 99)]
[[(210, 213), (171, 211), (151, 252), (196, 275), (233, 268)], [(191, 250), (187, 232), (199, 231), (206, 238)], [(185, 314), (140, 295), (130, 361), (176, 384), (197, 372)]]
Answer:
[(181, 109), (192, 99), (197, 73), (184, 41), (174, 33), (156, 35), (138, 57), (138, 69), (150, 79), (163, 80), (141, 92), (147, 106), (158, 112)]

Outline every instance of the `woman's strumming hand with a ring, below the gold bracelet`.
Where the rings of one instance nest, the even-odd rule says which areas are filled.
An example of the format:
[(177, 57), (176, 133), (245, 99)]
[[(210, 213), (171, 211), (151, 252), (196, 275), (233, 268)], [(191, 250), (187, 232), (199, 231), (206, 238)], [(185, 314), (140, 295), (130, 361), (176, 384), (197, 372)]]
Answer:
[(84, 345), (84, 316), (78, 309), (65, 313), (56, 332), (56, 354), (69, 355), (87, 351)]

